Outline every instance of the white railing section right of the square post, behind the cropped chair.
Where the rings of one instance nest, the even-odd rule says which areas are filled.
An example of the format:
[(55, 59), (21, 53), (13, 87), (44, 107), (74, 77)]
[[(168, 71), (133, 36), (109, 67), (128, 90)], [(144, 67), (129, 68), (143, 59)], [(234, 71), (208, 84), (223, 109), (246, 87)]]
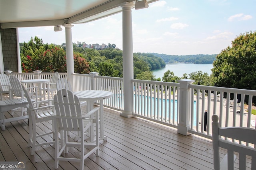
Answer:
[[(220, 127), (252, 128), (254, 126), (253, 128), (255, 128), (256, 116), (251, 113), (252, 98), (256, 96), (256, 90), (192, 84), (188, 88), (191, 89), (192, 93), (191, 102), (196, 101), (196, 105), (191, 104), (190, 133), (209, 138), (212, 134), (211, 117), (214, 114), (219, 116)], [(199, 93), (194, 95), (195, 91)], [(246, 104), (245, 101), (247, 101)], [(193, 108), (194, 106), (196, 106), (196, 109)], [(208, 112), (206, 131), (204, 131), (205, 110)]]

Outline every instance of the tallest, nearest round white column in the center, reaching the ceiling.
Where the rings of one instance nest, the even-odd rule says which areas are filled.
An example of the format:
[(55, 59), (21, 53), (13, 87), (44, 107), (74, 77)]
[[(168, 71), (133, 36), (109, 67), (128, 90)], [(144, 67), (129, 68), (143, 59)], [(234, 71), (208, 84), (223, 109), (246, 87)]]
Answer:
[(132, 8), (134, 4), (125, 3), (122, 8), (123, 22), (123, 77), (124, 77), (124, 117), (132, 116), (133, 89), (133, 47), (132, 47)]

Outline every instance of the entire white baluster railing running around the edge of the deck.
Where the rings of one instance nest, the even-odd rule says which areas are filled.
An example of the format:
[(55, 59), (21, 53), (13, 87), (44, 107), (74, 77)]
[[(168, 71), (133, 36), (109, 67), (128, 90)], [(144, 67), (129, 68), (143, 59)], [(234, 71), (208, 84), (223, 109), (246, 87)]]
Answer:
[[(20, 80), (47, 78), (54, 73), (10, 73)], [(59, 73), (67, 78), (66, 73)], [(104, 106), (124, 109), (123, 78), (98, 76), (98, 73), (72, 74), (73, 90), (107, 90), (113, 97), (104, 100)], [(193, 80), (179, 83), (132, 80), (134, 88), (133, 115), (178, 129), (178, 133), (190, 133), (211, 139), (211, 116), (220, 117), (220, 127), (255, 128), (256, 116), (252, 115), (252, 98), (256, 90), (221, 88), (193, 85)], [(212, 93), (212, 96), (210, 95)], [(240, 100), (238, 103), (237, 100)], [(248, 101), (246, 104), (245, 101)], [(204, 131), (204, 111), (207, 125)]]

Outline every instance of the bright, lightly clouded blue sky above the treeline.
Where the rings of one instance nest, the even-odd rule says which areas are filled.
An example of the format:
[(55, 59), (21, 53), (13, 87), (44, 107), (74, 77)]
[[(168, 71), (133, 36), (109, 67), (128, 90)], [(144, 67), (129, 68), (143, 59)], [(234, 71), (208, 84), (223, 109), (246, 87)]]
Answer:
[[(133, 52), (167, 55), (218, 54), (241, 33), (256, 31), (256, 0), (159, 0), (132, 9)], [(39, 37), (65, 43), (65, 31), (19, 28), (20, 43)], [(73, 43), (122, 47), (122, 13), (72, 27)]]

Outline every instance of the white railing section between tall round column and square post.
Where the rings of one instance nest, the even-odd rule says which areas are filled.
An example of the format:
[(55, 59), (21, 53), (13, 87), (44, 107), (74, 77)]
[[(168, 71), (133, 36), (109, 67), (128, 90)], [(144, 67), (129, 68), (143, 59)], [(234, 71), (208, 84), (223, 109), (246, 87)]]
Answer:
[(179, 83), (132, 80), (133, 115), (176, 127), (179, 115)]

